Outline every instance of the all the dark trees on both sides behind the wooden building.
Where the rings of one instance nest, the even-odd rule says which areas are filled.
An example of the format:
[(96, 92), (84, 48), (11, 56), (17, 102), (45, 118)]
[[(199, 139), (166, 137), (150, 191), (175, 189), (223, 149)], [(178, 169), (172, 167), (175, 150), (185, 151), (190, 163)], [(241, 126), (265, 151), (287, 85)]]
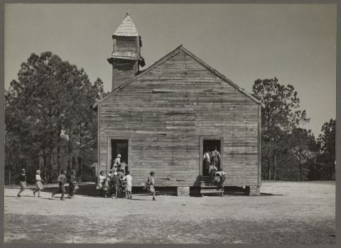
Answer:
[[(278, 79), (256, 80), (261, 109), (263, 180), (335, 180), (335, 120), (316, 139), (301, 128), (309, 122), (292, 85)], [(5, 179), (26, 168), (34, 180), (39, 168), (52, 183), (61, 168), (76, 169), (92, 180), (97, 162), (97, 114), (92, 103), (104, 97), (103, 82), (51, 52), (31, 54), (18, 79), (5, 91)], [(31, 177), (30, 177), (31, 175)]]

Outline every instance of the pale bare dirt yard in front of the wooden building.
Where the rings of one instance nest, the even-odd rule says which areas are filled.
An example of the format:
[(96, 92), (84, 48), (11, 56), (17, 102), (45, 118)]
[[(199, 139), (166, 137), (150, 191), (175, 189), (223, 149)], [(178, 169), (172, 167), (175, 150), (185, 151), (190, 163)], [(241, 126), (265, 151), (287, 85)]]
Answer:
[[(335, 182), (263, 182), (262, 195), (4, 195), (5, 242), (335, 244)], [(83, 190), (84, 191), (84, 190)], [(76, 193), (77, 194), (77, 193)]]

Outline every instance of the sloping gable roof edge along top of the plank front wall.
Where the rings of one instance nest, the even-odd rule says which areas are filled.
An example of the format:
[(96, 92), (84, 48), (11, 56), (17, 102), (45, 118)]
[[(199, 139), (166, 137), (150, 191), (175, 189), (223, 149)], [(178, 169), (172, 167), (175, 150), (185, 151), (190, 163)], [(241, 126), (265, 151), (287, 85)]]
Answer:
[(227, 77), (225, 77), (224, 75), (222, 75), (220, 72), (218, 72), (217, 70), (213, 69), (212, 67), (210, 67), (210, 65), (207, 65), (204, 61), (200, 60), (200, 58), (197, 58), (197, 56), (195, 56), (193, 53), (190, 53), (189, 50), (183, 48), (183, 45), (179, 45), (178, 48), (175, 48), (173, 51), (171, 51), (171, 53), (168, 53), (166, 56), (164, 56), (163, 58), (161, 58), (160, 60), (156, 61), (156, 63), (153, 63), (153, 65), (149, 66), (148, 68), (146, 68), (146, 70), (141, 71), (140, 74), (136, 75), (135, 77), (131, 77), (131, 79), (127, 80), (126, 82), (122, 83), (121, 85), (119, 85), (118, 87), (116, 87), (114, 90), (112, 90), (112, 92), (109, 92), (108, 95), (106, 95), (105, 97), (103, 97), (102, 99), (99, 99), (97, 102), (95, 102), (92, 107), (95, 108), (97, 107), (97, 105), (100, 102), (103, 102), (105, 99), (111, 97), (112, 95), (114, 95), (115, 93), (119, 92), (120, 90), (124, 90), (124, 88), (128, 85), (131, 84), (131, 82), (136, 82), (136, 80), (139, 79), (139, 77), (141, 77), (142, 75), (146, 74), (147, 72), (149, 72), (150, 70), (153, 70), (153, 68), (158, 67), (158, 65), (163, 64), (164, 62), (166, 62), (166, 60), (172, 58), (173, 56), (177, 55), (178, 53), (180, 53), (180, 51), (183, 51), (185, 54), (189, 55), (191, 58), (193, 58), (195, 61), (197, 61), (197, 63), (200, 63), (200, 65), (202, 65), (203, 67), (205, 67), (207, 70), (209, 70), (210, 72), (212, 72), (214, 75), (216, 75), (217, 77), (219, 77), (221, 80), (223, 80), (224, 82), (227, 82), (229, 85), (231, 85), (232, 87), (234, 87), (236, 90), (238, 90), (239, 92), (241, 92), (242, 94), (244, 94), (245, 96), (249, 97), (251, 100), (253, 100), (254, 102), (256, 102), (257, 104), (261, 104), (261, 106), (264, 107), (264, 104), (262, 104), (258, 99), (256, 99), (255, 97), (253, 97), (251, 94), (249, 94), (248, 92), (246, 92), (243, 88), (239, 87), (238, 85), (236, 85), (234, 82), (232, 82), (231, 80), (229, 80)]

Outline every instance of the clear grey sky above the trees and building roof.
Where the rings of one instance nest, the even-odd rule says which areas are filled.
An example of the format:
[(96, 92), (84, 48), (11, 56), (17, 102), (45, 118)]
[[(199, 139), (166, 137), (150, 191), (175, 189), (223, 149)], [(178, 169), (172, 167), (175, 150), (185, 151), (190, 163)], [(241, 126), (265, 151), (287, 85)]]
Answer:
[[(247, 92), (291, 84), (315, 136), (336, 114), (335, 4), (129, 4), (147, 68), (178, 45)], [(111, 90), (112, 33), (128, 4), (6, 4), (5, 89), (31, 53), (51, 51)]]

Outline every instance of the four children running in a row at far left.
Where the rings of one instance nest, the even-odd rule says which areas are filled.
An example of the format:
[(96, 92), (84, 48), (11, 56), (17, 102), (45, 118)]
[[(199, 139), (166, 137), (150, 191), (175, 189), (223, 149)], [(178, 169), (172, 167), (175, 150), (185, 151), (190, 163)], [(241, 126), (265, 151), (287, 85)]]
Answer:
[[(58, 176), (58, 185), (59, 189), (58, 191), (52, 193), (51, 197), (53, 198), (56, 194), (61, 194), (60, 200), (65, 200), (64, 195), (65, 195), (65, 183), (67, 182), (67, 177), (66, 177), (67, 171), (65, 169), (62, 169), (60, 171), (60, 175)], [(74, 198), (75, 191), (77, 190), (77, 178), (76, 178), (76, 171), (71, 170), (70, 178), (68, 180), (69, 182), (69, 195), (67, 198)], [(36, 171), (36, 190), (33, 190), (33, 195), (36, 197), (36, 193), (38, 193), (38, 198), (40, 198), (40, 191), (43, 190), (43, 183), (44, 180), (41, 179), (40, 177), (40, 170)], [(19, 175), (19, 185), (20, 185), (20, 190), (18, 192), (18, 197), (21, 197), (21, 193), (23, 190), (26, 190), (26, 170), (24, 168), (21, 169), (21, 174)]]

